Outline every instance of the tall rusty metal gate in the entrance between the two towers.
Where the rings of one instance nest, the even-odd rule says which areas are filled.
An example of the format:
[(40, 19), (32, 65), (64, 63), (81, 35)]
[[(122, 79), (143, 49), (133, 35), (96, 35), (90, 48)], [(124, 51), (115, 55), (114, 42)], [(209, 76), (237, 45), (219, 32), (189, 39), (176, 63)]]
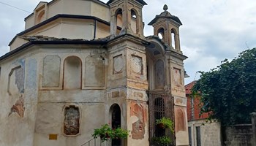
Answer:
[[(163, 117), (170, 118), (174, 123), (174, 100), (167, 93), (149, 93), (149, 136), (150, 145), (154, 144), (154, 137), (170, 137), (173, 145), (175, 145), (175, 134), (170, 129), (159, 130), (156, 127), (156, 120)], [(175, 123), (174, 123), (175, 124)]]

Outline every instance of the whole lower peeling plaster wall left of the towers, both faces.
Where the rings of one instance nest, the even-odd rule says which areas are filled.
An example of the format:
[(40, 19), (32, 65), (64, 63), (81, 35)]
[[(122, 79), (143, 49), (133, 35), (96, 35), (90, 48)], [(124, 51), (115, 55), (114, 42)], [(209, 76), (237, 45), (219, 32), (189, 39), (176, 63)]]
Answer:
[[(15, 58), (0, 62), (0, 100), (2, 101), (0, 104), (2, 112), (0, 115), (0, 129), (3, 131), (0, 133), (0, 145), (82, 145), (91, 139), (94, 128), (108, 123), (106, 120), (108, 115), (106, 114), (109, 114), (109, 110), (106, 112), (105, 109), (105, 82), (95, 80), (93, 81), (93, 87), (86, 86), (86, 77), (89, 76), (84, 75), (86, 72), (91, 72), (90, 74), (95, 72), (95, 70), (86, 71), (86, 58), (88, 56), (97, 59), (105, 58), (105, 50), (93, 49), (94, 47), (86, 45), (83, 46), (83, 50), (81, 50), (81, 46), (65, 45), (59, 47), (61, 49), (66, 47), (65, 52), (50, 46), (34, 47), (33, 50), (40, 50), (40, 52), (31, 51), (27, 53), (29, 52), (27, 50), (21, 56), (15, 56)], [(52, 64), (60, 64), (60, 69), (57, 67), (54, 70), (52, 66), (44, 68), (44, 58), (47, 56), (58, 56), (56, 58), (59, 59), (50, 59), (50, 61), (52, 61)], [(82, 77), (80, 80), (82, 90), (63, 90), (64, 60), (69, 56), (77, 56), (81, 60)], [(103, 71), (108, 69), (108, 58), (105, 58), (105, 61), (106, 63), (103, 62), (103, 64), (101, 61), (98, 62), (99, 66), (104, 66)], [(46, 78), (53, 75), (43, 74), (44, 69), (53, 69), (53, 74), (56, 75), (56, 78), (59, 78), (59, 84), (54, 83), (56, 80), (52, 80), (54, 84), (51, 80), (46, 80), (47, 83), (43, 82), (44, 75)], [(24, 83), (22, 83), (23, 79), (20, 79), (23, 74), (25, 74)], [(105, 75), (102, 77), (103, 80), (105, 80)], [(18, 79), (16, 79), (17, 77)], [(69, 78), (72, 77), (69, 75)], [(10, 91), (12, 91), (12, 95), (7, 92), (8, 82), (11, 82)], [(20, 96), (23, 97), (23, 101), (19, 100)], [(23, 118), (18, 115), (18, 112), (10, 112), (13, 106), (18, 107), (18, 105), (24, 107)], [(64, 106), (69, 105), (78, 106), (80, 110), (80, 132), (77, 136), (66, 136), (63, 132)], [(50, 134), (56, 134), (57, 139), (50, 140)]]

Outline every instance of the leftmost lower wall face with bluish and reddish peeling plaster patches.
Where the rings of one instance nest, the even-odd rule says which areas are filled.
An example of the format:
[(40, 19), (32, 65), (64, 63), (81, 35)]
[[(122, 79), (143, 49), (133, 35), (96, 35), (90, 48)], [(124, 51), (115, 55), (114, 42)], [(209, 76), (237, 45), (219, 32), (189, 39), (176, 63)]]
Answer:
[(0, 63), (0, 145), (3, 146), (33, 145), (38, 88), (37, 55), (31, 53), (24, 52)]

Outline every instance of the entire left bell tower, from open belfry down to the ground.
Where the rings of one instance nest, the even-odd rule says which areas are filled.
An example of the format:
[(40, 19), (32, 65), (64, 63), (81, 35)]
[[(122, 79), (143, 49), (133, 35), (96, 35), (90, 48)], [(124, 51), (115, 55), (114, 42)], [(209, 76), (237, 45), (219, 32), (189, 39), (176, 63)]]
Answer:
[[(143, 35), (143, 0), (110, 0), (110, 41), (105, 107), (120, 107), (121, 120), (107, 115), (108, 123), (119, 123), (129, 131), (122, 145), (149, 145), (146, 42)], [(120, 142), (116, 142), (120, 144)], [(116, 144), (115, 143), (115, 144)], [(112, 144), (114, 142), (112, 141)]]

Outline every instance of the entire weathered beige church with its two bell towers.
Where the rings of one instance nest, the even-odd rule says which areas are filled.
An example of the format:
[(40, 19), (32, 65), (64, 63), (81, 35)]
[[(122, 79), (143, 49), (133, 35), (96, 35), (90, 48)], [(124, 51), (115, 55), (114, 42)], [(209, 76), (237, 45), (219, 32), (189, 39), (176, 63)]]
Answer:
[(165, 6), (144, 37), (144, 5), (40, 2), (0, 57), (0, 145), (80, 146), (105, 123), (129, 131), (122, 145), (152, 145), (156, 101), (189, 145), (181, 21)]

